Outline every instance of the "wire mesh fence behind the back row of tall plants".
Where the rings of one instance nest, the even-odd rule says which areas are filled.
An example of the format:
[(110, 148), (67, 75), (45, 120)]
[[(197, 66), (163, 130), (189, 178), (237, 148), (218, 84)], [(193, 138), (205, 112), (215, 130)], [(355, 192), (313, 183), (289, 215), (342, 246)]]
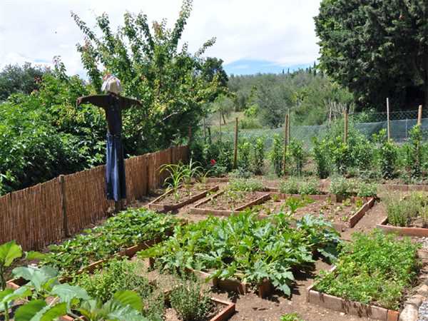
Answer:
[[(406, 116), (413, 116), (412, 118), (406, 118)], [(428, 140), (428, 113), (426, 118), (422, 118), (422, 132), (424, 140)], [(387, 116), (386, 113), (371, 113), (371, 119), (383, 119), (384, 121), (360, 121), (360, 119), (365, 119), (367, 114), (353, 114), (350, 115), (350, 119), (353, 119), (353, 126), (357, 128), (360, 133), (364, 134), (367, 138), (371, 138), (374, 133), (379, 133), (382, 128), (387, 129)], [(403, 118), (404, 117), (404, 118)], [(392, 118), (402, 118), (395, 119)], [(417, 124), (417, 111), (403, 111), (396, 112), (394, 116), (390, 115), (389, 128), (390, 136), (393, 141), (397, 143), (404, 143), (409, 138), (409, 131)], [(339, 120), (341, 121), (341, 120)], [(312, 138), (322, 138), (326, 135), (329, 129), (328, 125), (319, 125), (319, 126), (290, 126), (290, 138), (297, 139), (298, 141), (303, 141), (304, 145), (307, 148), (312, 146)], [(240, 129), (239, 138), (246, 138), (250, 142), (254, 141), (258, 137), (265, 138), (265, 145), (267, 148), (272, 146), (272, 138), (275, 134), (284, 135), (284, 128), (274, 128), (274, 129)], [(233, 141), (235, 137), (234, 131), (212, 131), (211, 139), (215, 141), (216, 139), (223, 138)]]

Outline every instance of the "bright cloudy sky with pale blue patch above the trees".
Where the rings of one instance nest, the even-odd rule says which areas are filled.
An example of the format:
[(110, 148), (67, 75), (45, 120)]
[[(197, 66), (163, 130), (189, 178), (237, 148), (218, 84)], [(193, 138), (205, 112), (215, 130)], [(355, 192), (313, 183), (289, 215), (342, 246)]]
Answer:
[[(70, 11), (95, 26), (106, 12), (113, 26), (123, 13), (143, 11), (149, 21), (172, 27), (181, 0), (0, 0), (0, 68), (29, 61), (50, 65), (61, 56), (68, 73), (86, 77), (76, 44), (83, 35)], [(194, 0), (183, 34), (190, 51), (208, 39), (205, 56), (223, 59), (230, 74), (279, 73), (312, 64), (318, 57), (313, 17), (320, 0)]]

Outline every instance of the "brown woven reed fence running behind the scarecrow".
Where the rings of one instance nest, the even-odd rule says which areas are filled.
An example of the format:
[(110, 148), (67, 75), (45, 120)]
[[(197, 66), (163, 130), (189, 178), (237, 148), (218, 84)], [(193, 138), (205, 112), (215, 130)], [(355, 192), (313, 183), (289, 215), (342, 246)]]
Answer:
[[(187, 160), (187, 146), (127, 159), (128, 202), (161, 186), (161, 165)], [(24, 250), (40, 250), (106, 218), (113, 202), (106, 200), (105, 182), (102, 165), (1, 196), (0, 244), (16, 240)]]

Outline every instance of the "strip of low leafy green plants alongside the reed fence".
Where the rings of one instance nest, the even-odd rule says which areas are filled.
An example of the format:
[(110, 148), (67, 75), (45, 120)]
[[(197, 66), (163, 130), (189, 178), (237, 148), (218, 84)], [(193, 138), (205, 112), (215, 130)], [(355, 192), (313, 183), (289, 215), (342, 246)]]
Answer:
[(132, 245), (168, 238), (165, 232), (179, 222), (171, 215), (158, 215), (145, 208), (126, 210), (108, 218), (103, 225), (51, 245), (49, 255), (41, 263), (58, 268), (61, 273), (71, 273)]

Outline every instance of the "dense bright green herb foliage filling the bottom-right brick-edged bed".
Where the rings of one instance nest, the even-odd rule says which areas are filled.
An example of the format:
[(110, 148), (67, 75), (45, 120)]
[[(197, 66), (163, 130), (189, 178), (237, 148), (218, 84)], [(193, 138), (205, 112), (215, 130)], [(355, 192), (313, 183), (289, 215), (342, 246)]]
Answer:
[(323, 272), (316, 290), (330, 295), (399, 310), (402, 293), (417, 277), (417, 248), (380, 230), (354, 233), (340, 253), (334, 272)]

